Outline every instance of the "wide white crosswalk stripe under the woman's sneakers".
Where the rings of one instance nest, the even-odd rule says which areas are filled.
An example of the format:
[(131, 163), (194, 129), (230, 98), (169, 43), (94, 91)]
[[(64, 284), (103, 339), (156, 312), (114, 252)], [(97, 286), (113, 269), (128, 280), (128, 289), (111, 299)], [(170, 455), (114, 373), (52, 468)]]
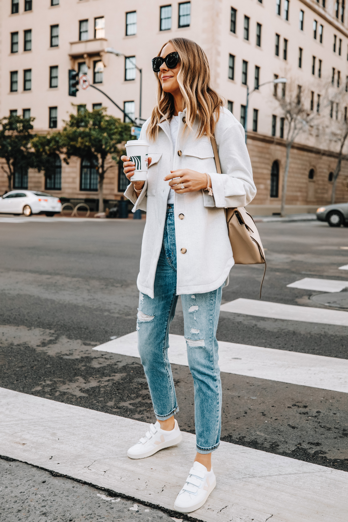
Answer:
[[(2, 455), (167, 509), (173, 509), (195, 454), (195, 435), (183, 432), (175, 448), (129, 459), (128, 447), (148, 424), (4, 388), (0, 417)], [(217, 488), (194, 513), (200, 520), (260, 522), (273, 515), (274, 522), (346, 522), (344, 471), (221, 442), (214, 473)]]

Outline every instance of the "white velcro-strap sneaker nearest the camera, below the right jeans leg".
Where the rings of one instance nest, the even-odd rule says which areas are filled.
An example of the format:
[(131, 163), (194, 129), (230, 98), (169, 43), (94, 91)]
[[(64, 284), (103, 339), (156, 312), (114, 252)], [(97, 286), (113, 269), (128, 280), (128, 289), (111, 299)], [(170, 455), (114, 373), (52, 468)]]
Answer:
[(183, 489), (176, 497), (174, 509), (180, 513), (196, 511), (205, 504), (215, 485), (217, 485), (217, 480), (213, 468), (207, 471), (205, 466), (194, 462)]

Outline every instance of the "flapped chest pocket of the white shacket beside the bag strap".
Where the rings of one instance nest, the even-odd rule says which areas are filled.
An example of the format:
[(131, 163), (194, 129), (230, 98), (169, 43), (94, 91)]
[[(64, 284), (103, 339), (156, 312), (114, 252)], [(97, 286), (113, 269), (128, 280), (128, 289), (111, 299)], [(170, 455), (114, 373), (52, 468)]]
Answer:
[(182, 152), (181, 160), (182, 169), (216, 172), (213, 147), (206, 137), (187, 145)]

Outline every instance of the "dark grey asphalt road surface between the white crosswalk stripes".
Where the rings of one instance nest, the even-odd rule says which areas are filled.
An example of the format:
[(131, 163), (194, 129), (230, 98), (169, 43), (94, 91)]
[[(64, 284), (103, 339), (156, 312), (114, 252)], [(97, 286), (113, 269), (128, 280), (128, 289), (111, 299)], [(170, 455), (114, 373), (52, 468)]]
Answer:
[[(139, 359), (91, 350), (135, 331), (145, 222), (95, 221), (0, 223), (0, 386), (153, 422)], [(267, 249), (262, 300), (325, 308), (310, 299), (318, 292), (286, 285), (304, 277), (347, 279), (348, 273), (338, 270), (348, 263), (348, 250), (341, 249), (348, 246), (347, 229), (275, 222), (258, 223), (258, 230)], [(223, 302), (257, 299), (262, 272), (261, 266), (233, 267)], [(180, 300), (171, 333), (184, 334)], [(344, 326), (221, 312), (217, 338), (348, 359), (347, 334)], [(172, 368), (179, 426), (194, 433), (191, 375), (186, 366)], [(222, 373), (222, 389), (222, 440), (348, 471), (346, 394), (229, 373)], [(0, 464), (0, 475), (7, 469), (9, 476), (8, 463)], [(28, 488), (30, 477), (34, 481), (46, 473), (10, 464), (13, 477), (26, 467)], [(55, 488), (68, 516), (71, 497), (64, 488), (73, 486), (65, 480)], [(13, 491), (9, 506), (19, 494)], [(11, 509), (6, 522), (19, 519)]]

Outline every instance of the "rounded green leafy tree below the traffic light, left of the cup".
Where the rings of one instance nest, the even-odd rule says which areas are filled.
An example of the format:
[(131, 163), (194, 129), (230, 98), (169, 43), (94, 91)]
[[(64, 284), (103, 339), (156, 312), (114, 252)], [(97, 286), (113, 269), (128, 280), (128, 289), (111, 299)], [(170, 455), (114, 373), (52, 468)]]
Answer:
[(103, 183), (105, 173), (112, 164), (105, 166), (108, 155), (118, 158), (117, 144), (131, 139), (130, 124), (122, 123), (119, 118), (105, 113), (106, 109), (92, 112), (86, 109), (70, 114), (68, 122), (62, 130), (62, 143), (65, 148), (64, 161), (68, 163), (71, 156), (81, 160), (86, 158), (95, 164), (98, 171), (99, 210), (103, 210)]

